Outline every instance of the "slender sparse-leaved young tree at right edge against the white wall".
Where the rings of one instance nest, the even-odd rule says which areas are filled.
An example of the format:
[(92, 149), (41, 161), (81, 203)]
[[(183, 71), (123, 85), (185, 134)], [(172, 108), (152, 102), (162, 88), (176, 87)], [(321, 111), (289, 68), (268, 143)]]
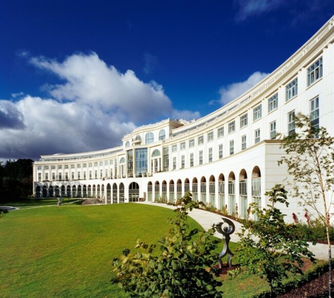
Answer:
[(329, 136), (326, 128), (313, 125), (311, 119), (305, 115), (298, 114), (294, 121), (298, 131), (283, 137), (281, 147), (287, 155), (282, 157), (279, 165), (286, 164), (288, 173), (293, 176), (293, 195), (300, 198), (300, 203), (308, 214), (316, 214), (326, 227), (328, 293), (331, 296), (329, 228), (333, 216), (330, 208), (334, 190), (334, 139)]

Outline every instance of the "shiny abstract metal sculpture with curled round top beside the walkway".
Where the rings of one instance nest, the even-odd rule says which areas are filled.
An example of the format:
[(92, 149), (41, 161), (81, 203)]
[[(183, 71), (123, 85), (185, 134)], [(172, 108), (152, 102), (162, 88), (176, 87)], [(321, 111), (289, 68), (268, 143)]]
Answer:
[(221, 218), (224, 222), (219, 222), (218, 224), (216, 224), (217, 232), (222, 234), (222, 240), (224, 241), (224, 246), (218, 256), (218, 263), (220, 269), (222, 268), (221, 259), (227, 254), (227, 264), (230, 268), (232, 266), (232, 256), (234, 255), (234, 253), (230, 250), (229, 243), (231, 240), (230, 235), (233, 234), (233, 232), (235, 231), (235, 226), (232, 221), (230, 221), (228, 218)]

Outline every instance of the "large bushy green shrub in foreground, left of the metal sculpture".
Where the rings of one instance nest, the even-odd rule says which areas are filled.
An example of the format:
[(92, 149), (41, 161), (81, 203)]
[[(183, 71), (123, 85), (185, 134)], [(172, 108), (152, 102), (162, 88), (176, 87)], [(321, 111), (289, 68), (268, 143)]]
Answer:
[[(182, 205), (181, 205), (182, 204)], [(217, 262), (211, 251), (218, 243), (208, 232), (193, 229), (187, 224), (188, 210), (195, 206), (190, 192), (178, 205), (171, 230), (156, 245), (137, 241), (140, 251), (121, 255), (114, 260), (113, 283), (119, 283), (127, 292), (140, 297), (221, 297), (217, 289), (221, 282), (212, 268)]]

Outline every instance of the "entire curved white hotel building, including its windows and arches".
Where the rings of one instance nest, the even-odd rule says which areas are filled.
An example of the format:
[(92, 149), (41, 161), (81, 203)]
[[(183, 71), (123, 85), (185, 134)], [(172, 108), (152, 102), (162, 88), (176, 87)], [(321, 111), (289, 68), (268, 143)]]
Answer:
[[(333, 43), (334, 16), (263, 81), (207, 116), (136, 128), (120, 147), (43, 155), (33, 165), (33, 193), (116, 204), (174, 202), (191, 190), (194, 200), (245, 217), (288, 178), (275, 136), (294, 130), (293, 114), (310, 115), (334, 136)], [(285, 210), (290, 218), (302, 212), (297, 201)]]

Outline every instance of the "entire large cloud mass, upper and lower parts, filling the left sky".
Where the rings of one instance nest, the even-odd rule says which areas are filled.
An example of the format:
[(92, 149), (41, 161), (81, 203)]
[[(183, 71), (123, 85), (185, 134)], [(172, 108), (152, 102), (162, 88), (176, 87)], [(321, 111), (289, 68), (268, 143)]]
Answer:
[(174, 109), (158, 83), (144, 83), (132, 70), (121, 73), (96, 53), (71, 55), (63, 62), (29, 61), (62, 83), (44, 85), (48, 98), (13, 93), (12, 101), (0, 101), (1, 158), (112, 148), (136, 125), (179, 115), (199, 117)]

